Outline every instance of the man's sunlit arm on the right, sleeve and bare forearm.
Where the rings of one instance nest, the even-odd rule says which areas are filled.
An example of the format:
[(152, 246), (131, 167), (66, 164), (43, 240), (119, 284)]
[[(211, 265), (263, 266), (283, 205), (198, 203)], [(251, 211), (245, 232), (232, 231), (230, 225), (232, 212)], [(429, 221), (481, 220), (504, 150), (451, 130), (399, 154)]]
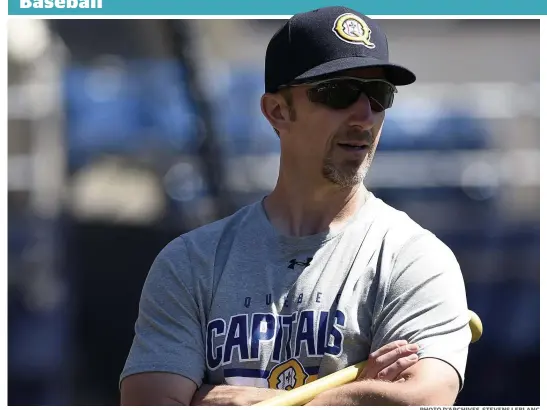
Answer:
[(426, 234), (399, 252), (391, 271), (373, 313), (372, 348), (406, 339), (420, 345), (420, 361), (396, 383), (357, 380), (318, 395), (309, 405), (454, 404), (471, 341), (459, 265), (442, 242)]

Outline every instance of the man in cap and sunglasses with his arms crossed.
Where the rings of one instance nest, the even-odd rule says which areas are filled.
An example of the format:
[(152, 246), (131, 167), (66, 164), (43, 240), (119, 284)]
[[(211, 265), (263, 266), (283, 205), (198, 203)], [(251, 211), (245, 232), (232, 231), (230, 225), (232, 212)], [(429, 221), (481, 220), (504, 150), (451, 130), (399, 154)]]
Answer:
[(380, 27), (328, 7), (266, 52), (273, 192), (184, 234), (148, 275), (122, 404), (248, 405), (368, 359), (309, 405), (451, 405), (471, 340), (462, 274), (432, 233), (366, 190), (396, 86)]

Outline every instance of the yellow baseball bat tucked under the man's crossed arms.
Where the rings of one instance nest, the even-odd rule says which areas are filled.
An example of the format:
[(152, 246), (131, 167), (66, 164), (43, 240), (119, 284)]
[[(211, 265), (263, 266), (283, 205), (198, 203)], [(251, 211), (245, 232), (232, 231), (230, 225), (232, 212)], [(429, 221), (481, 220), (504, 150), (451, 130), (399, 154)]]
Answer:
[[(469, 311), (469, 327), (471, 328), (471, 343), (475, 343), (482, 336), (482, 322), (479, 316), (472, 311)], [(261, 401), (255, 406), (302, 406), (319, 393), (354, 381), (366, 364), (367, 361), (364, 360), (279, 396)]]

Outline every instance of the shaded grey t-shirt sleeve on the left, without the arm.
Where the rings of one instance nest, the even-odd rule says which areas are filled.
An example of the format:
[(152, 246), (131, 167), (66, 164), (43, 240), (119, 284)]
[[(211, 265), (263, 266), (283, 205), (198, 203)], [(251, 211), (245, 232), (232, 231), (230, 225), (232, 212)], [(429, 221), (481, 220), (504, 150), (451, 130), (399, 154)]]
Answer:
[(186, 247), (179, 237), (159, 253), (150, 268), (120, 382), (136, 373), (168, 372), (201, 386), (205, 354), (191, 274)]

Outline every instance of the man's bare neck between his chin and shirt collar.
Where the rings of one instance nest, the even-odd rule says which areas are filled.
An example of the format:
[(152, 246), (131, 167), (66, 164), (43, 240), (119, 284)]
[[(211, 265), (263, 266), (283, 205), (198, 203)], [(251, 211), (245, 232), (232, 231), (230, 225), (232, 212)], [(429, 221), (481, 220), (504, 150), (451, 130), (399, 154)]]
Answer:
[(365, 202), (367, 190), (362, 184), (340, 188), (287, 184), (278, 180), (264, 200), (272, 225), (288, 236), (309, 236), (344, 225)]

